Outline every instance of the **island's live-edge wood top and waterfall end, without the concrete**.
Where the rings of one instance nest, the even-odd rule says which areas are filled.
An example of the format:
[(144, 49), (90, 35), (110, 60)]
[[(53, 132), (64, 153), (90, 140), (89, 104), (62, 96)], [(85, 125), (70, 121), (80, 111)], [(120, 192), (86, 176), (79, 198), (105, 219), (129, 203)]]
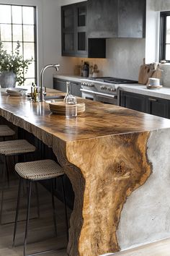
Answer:
[(152, 173), (148, 138), (153, 131), (170, 128), (168, 119), (85, 102), (84, 114), (66, 119), (51, 114), (48, 103), (0, 94), (0, 115), (53, 148), (71, 180), (75, 192), (68, 242), (71, 256), (121, 249), (117, 229), (123, 205)]

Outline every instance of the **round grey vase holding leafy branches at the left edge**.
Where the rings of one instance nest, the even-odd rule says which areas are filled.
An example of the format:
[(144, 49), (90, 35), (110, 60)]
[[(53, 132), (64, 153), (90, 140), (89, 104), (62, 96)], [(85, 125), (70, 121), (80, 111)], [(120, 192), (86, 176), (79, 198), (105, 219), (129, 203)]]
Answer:
[(1, 88), (15, 87), (16, 80), (17, 76), (13, 72), (3, 72), (0, 74)]

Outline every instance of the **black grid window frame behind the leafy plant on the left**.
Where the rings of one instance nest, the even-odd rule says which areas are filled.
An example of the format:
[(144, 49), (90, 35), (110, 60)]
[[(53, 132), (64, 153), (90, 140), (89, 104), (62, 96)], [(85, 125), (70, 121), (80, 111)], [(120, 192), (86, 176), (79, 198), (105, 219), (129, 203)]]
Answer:
[[(34, 59), (34, 62), (35, 62), (35, 77), (34, 77), (34, 79), (35, 79), (35, 84), (37, 84), (37, 7), (34, 6), (34, 5), (27, 5), (27, 4), (0, 4), (0, 6), (1, 5), (8, 5), (8, 6), (10, 6), (11, 7), (11, 15), (12, 15), (12, 6), (15, 6), (15, 7), (32, 7), (34, 9), (34, 25), (33, 25), (34, 26), (34, 42), (33, 43), (34, 43), (34, 46), (35, 46), (35, 48), (34, 48), (34, 54), (35, 54), (35, 59)], [(11, 23), (0, 23), (0, 24), (16, 25), (16, 23), (14, 23), (14, 22), (11, 22)], [(24, 53), (24, 45), (23, 45), (23, 43), (24, 42), (27, 43), (27, 41), (23, 40), (23, 25), (26, 25), (26, 24), (23, 23), (23, 16), (22, 16), (22, 23), (20, 25), (22, 25), (22, 40), (19, 40), (19, 43), (22, 43), (22, 52)], [(12, 36), (13, 36), (13, 30), (12, 30)], [(7, 41), (7, 40), (4, 41), (4, 40), (2, 40), (2, 43), (3, 42), (12, 43), (12, 51), (14, 51), (13, 43), (16, 43), (16, 41), (13, 40), (13, 37), (12, 37), (11, 41)], [(31, 78), (33, 78), (33, 77), (27, 77), (26, 80), (27, 79), (30, 80)]]

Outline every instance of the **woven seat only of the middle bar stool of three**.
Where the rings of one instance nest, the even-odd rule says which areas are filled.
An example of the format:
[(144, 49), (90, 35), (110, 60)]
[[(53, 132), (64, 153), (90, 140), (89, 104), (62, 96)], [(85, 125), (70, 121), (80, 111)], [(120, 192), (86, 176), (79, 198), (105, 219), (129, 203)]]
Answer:
[(0, 154), (3, 155), (30, 153), (35, 150), (35, 146), (27, 142), (27, 140), (8, 140), (0, 142)]

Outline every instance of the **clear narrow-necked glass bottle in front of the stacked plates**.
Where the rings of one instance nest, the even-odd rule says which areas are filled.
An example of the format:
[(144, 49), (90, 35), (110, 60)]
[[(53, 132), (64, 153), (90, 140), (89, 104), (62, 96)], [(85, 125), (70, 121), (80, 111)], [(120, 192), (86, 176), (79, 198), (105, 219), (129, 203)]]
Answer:
[(77, 102), (76, 97), (70, 92), (70, 82), (66, 82), (66, 97), (64, 98), (66, 102), (66, 118), (77, 116)]

